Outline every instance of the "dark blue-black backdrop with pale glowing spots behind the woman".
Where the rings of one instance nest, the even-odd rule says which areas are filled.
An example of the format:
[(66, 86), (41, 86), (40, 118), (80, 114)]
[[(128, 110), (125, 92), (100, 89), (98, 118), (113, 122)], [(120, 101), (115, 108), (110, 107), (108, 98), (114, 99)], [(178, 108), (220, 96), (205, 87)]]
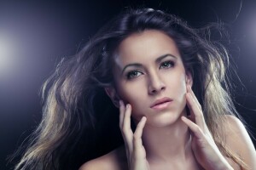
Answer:
[(39, 90), (55, 65), (127, 7), (163, 9), (195, 27), (227, 23), (227, 48), (244, 84), (236, 87), (236, 107), (256, 136), (256, 1), (0, 0), (0, 169), (13, 166), (7, 156), (40, 122)]

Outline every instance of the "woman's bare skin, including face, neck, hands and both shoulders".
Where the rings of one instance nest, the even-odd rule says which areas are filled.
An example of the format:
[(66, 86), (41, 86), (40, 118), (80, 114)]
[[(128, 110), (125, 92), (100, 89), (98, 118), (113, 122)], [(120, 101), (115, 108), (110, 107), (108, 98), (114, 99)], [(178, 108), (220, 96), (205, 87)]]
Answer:
[[(80, 170), (240, 169), (214, 143), (191, 90), (192, 78), (172, 38), (160, 31), (143, 31), (121, 42), (118, 54), (114, 68), (117, 88), (106, 91), (114, 105), (115, 99), (120, 99), (119, 127), (125, 145), (86, 162)], [(170, 105), (151, 107), (163, 97), (172, 99)], [(185, 105), (191, 113), (189, 118)], [(137, 123), (134, 133), (131, 117)], [(235, 117), (225, 120), (226, 145), (244, 158), (248, 167), (256, 169), (255, 149), (247, 131)]]

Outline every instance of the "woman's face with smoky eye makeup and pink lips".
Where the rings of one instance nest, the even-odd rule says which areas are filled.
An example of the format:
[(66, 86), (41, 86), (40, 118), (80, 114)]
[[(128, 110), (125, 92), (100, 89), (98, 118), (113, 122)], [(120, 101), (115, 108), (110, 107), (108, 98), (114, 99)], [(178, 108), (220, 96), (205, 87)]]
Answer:
[(191, 77), (165, 33), (148, 30), (125, 38), (114, 57), (113, 76), (115, 95), (131, 104), (135, 122), (147, 116), (147, 124), (161, 127), (183, 114)]

